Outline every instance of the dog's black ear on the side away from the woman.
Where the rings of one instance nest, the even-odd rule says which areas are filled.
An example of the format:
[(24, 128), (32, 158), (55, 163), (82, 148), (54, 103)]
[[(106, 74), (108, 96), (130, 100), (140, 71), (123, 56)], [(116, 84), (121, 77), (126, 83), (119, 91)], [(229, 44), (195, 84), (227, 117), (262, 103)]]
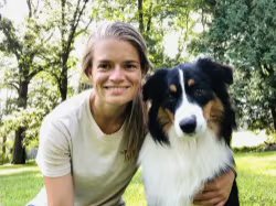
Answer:
[(227, 85), (233, 84), (233, 68), (216, 62), (213, 62), (210, 58), (200, 58), (197, 62), (197, 65), (202, 69), (211, 80), (215, 83), (224, 83)]

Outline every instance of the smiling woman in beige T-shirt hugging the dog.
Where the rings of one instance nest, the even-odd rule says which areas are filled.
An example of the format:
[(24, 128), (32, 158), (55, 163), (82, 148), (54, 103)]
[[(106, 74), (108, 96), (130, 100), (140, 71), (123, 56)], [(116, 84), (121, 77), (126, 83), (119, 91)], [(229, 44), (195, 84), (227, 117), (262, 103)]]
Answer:
[[(146, 134), (140, 89), (149, 68), (145, 41), (131, 25), (105, 23), (91, 36), (83, 71), (93, 89), (44, 119), (36, 162), (45, 189), (30, 205), (124, 205)], [(198, 203), (223, 204), (233, 178), (229, 172), (208, 184)]]

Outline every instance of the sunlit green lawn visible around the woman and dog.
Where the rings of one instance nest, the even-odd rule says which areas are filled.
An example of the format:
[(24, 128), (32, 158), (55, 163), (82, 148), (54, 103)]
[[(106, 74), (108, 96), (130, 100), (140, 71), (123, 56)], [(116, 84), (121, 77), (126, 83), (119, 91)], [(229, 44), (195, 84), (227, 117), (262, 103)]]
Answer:
[[(236, 153), (235, 160), (241, 205), (276, 205), (276, 152)], [(42, 175), (34, 163), (0, 166), (0, 206), (22, 206), (42, 185)], [(124, 198), (130, 206), (146, 205), (140, 172), (132, 178)]]

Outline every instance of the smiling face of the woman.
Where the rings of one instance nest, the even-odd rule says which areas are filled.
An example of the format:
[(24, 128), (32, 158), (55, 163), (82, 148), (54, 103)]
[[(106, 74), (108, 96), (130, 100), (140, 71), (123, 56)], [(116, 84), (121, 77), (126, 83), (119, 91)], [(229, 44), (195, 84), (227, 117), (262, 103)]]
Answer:
[(141, 85), (138, 51), (127, 41), (98, 41), (94, 46), (89, 76), (98, 104), (125, 106), (137, 96)]

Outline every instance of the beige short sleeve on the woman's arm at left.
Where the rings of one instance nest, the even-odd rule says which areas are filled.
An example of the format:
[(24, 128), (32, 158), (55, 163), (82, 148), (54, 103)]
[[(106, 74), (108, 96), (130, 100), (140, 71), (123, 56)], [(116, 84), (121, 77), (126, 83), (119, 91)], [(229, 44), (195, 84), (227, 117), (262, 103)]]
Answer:
[(62, 121), (45, 118), (40, 130), (36, 163), (44, 176), (71, 173), (70, 132)]

